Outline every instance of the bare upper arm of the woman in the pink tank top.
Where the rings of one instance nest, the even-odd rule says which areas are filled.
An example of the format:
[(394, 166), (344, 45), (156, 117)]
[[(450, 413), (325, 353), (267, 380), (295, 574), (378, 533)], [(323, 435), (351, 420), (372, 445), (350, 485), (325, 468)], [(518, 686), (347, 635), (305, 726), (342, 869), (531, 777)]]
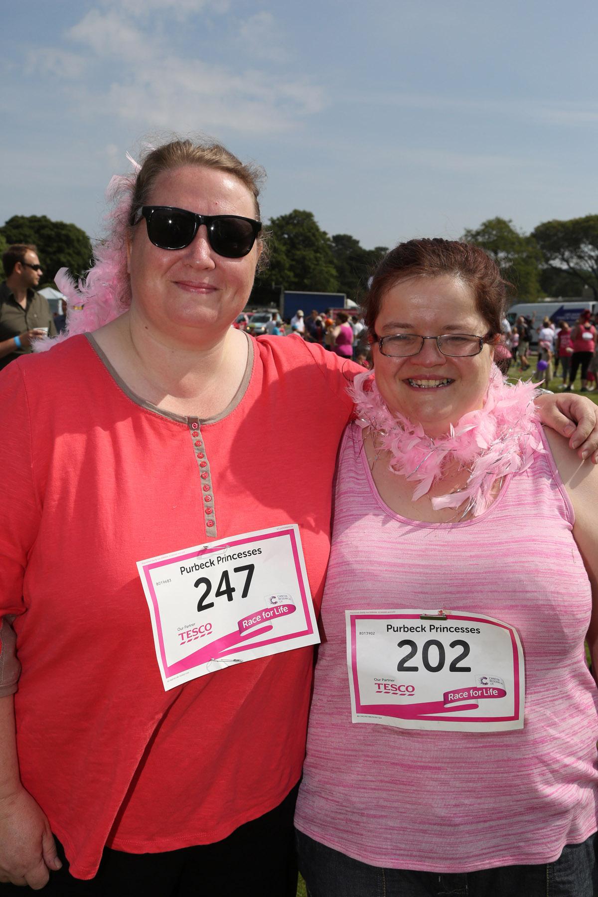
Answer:
[(592, 620), (587, 641), (594, 679), (598, 682), (598, 467), (592, 466), (589, 461), (579, 461), (569, 451), (567, 440), (557, 433), (546, 431), (546, 438), (575, 511), (573, 537), (592, 585)]

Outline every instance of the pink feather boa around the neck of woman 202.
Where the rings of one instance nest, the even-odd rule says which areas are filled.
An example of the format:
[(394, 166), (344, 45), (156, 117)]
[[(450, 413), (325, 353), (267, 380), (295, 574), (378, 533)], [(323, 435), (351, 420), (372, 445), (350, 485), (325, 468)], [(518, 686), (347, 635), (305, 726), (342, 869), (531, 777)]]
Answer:
[(483, 408), (464, 414), (436, 439), (427, 436), (420, 423), (388, 410), (371, 373), (358, 374), (349, 393), (356, 405), (356, 423), (376, 433), (377, 445), (390, 454), (390, 469), (419, 483), (413, 501), (442, 479), (446, 462), (456, 459), (469, 470), (463, 489), (431, 499), (435, 510), (460, 508), (465, 502), (461, 517), (477, 517), (489, 507), (494, 483), (526, 470), (534, 452), (543, 451), (533, 405), (535, 384), (519, 380), (509, 386), (496, 365)]

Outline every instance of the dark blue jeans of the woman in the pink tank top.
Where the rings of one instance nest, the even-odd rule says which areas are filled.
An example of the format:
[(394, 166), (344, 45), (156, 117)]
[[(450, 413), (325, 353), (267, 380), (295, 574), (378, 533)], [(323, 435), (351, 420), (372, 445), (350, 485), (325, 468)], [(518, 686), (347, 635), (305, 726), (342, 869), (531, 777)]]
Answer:
[(568, 844), (554, 863), (479, 872), (413, 872), (368, 866), (297, 832), (308, 897), (595, 897), (596, 835)]

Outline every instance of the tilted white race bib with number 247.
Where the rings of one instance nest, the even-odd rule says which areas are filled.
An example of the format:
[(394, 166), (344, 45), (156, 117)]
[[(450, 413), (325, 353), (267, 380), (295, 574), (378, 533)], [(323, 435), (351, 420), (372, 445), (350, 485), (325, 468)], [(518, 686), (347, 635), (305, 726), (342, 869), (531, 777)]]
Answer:
[(137, 562), (164, 689), (320, 640), (299, 527)]

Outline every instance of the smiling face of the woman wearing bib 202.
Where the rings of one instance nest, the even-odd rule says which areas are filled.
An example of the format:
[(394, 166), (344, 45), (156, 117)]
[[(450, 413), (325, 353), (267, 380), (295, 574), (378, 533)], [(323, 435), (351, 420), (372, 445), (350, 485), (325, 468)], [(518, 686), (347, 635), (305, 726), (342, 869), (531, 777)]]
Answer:
[[(418, 334), (486, 335), (488, 323), (476, 308), (471, 288), (453, 276), (412, 277), (386, 292), (376, 319), (378, 336)], [(488, 388), (493, 351), (449, 358), (434, 340), (419, 354), (388, 358), (373, 345), (377, 388), (391, 411), (420, 422), (438, 436), (460, 417), (481, 408)]]

